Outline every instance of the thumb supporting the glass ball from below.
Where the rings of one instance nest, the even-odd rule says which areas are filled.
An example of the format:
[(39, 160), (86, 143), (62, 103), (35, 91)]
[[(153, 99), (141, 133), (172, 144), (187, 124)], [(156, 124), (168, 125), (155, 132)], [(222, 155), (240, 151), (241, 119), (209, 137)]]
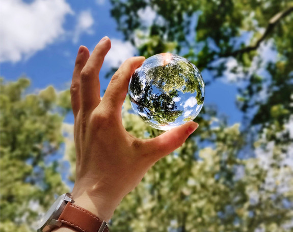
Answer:
[(198, 124), (195, 122), (185, 123), (155, 138), (147, 140), (144, 149), (147, 150), (150, 159), (156, 162), (179, 148), (197, 128)]

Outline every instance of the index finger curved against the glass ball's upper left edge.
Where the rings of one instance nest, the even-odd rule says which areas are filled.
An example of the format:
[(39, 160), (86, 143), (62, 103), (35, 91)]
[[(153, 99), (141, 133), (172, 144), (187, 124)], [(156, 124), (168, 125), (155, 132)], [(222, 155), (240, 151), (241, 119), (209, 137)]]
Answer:
[(104, 104), (113, 113), (121, 115), (121, 108), (127, 95), (129, 79), (144, 60), (145, 58), (142, 56), (132, 57), (119, 67), (105, 91), (101, 104)]

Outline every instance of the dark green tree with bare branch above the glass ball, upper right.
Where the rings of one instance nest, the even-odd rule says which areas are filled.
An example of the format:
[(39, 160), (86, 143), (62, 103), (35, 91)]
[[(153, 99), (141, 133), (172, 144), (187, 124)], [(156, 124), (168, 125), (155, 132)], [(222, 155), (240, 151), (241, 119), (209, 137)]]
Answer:
[[(272, 104), (277, 105), (275, 96), (281, 93), (282, 98), (277, 101), (282, 99), (285, 109), (293, 110), (290, 105), (293, 65), (291, 1), (111, 2), (118, 30), (138, 48), (140, 55), (149, 57), (174, 52), (188, 58), (201, 71), (204, 68), (213, 71), (214, 78), (222, 76), (228, 59), (235, 59), (232, 72), (244, 77), (244, 88), (239, 89), (239, 108), (250, 115), (250, 109), (259, 105), (260, 114), (266, 111), (262, 117), (270, 115)], [(149, 27), (140, 17), (140, 12), (146, 9), (155, 13)], [(195, 18), (198, 19), (197, 25), (192, 25)], [(247, 41), (249, 45), (246, 45)], [(258, 48), (265, 43), (270, 43), (279, 54), (276, 62), (261, 62)], [(259, 75), (260, 68), (267, 69), (270, 75)], [(268, 104), (260, 100), (263, 92), (269, 95)], [(259, 124), (259, 114), (254, 114), (254, 118)], [(289, 114), (286, 114), (285, 119), (288, 118)]]

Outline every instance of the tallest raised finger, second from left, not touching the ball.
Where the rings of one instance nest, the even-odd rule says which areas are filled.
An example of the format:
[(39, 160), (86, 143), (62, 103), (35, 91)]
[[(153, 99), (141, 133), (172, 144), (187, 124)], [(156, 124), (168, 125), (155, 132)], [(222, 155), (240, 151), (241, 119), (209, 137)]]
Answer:
[(101, 101), (99, 72), (110, 48), (111, 41), (105, 36), (96, 45), (81, 72), (81, 108), (84, 111), (94, 109)]

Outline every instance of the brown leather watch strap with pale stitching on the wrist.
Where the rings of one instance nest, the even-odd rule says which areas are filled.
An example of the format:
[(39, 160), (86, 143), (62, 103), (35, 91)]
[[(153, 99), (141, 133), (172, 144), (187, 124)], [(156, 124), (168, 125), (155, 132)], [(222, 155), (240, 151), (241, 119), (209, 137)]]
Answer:
[[(58, 221), (66, 224), (80, 232), (98, 232), (102, 225), (102, 221), (91, 212), (68, 202), (60, 215)], [(106, 225), (103, 232), (108, 232)]]

